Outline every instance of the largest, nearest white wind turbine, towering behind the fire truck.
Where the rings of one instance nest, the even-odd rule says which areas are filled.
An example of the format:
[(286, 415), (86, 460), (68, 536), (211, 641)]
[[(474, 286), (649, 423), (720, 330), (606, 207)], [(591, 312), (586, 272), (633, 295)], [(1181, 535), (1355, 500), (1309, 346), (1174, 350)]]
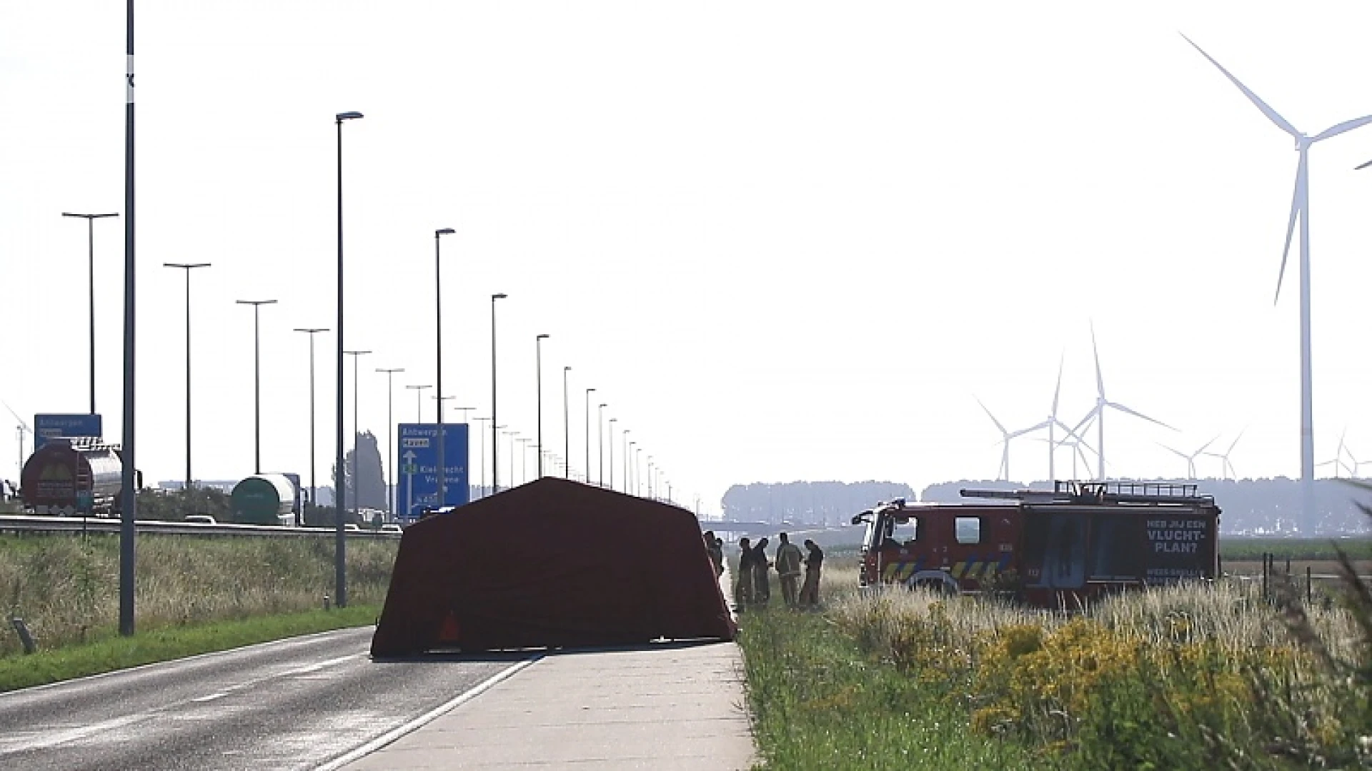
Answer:
[[(1192, 48), (1200, 52), (1202, 56), (1210, 60), (1224, 77), (1229, 78), (1254, 107), (1262, 111), (1269, 121), (1276, 123), (1279, 129), (1291, 134), (1295, 140), (1295, 150), (1299, 154), (1295, 166), (1295, 192), (1291, 196), (1291, 217), (1287, 220), (1287, 240), (1286, 247), (1281, 250), (1281, 268), (1277, 270), (1277, 291), (1272, 298), (1272, 305), (1276, 305), (1277, 298), (1281, 296), (1281, 278), (1286, 274), (1286, 261), (1287, 254), (1291, 251), (1291, 233), (1295, 229), (1297, 220), (1301, 221), (1301, 510), (1306, 517), (1314, 517), (1314, 427), (1313, 427), (1313, 398), (1310, 395), (1310, 165), (1309, 165), (1309, 151), (1310, 145), (1320, 140), (1327, 140), (1329, 137), (1336, 137), (1345, 132), (1351, 132), (1367, 123), (1372, 123), (1372, 115), (1364, 115), (1361, 118), (1353, 118), (1351, 121), (1343, 121), (1342, 123), (1335, 123), (1328, 129), (1314, 134), (1313, 137), (1306, 136), (1303, 132), (1287, 122), (1286, 118), (1277, 115), (1277, 111), (1268, 106), (1266, 102), (1258, 99), (1258, 95), (1249, 91), (1246, 85), (1239, 82), (1239, 78), (1229, 74), (1218, 62), (1216, 62), (1209, 54), (1206, 54), (1199, 45), (1196, 45), (1190, 37), (1181, 36)], [(1365, 166), (1365, 163), (1364, 163)]]

